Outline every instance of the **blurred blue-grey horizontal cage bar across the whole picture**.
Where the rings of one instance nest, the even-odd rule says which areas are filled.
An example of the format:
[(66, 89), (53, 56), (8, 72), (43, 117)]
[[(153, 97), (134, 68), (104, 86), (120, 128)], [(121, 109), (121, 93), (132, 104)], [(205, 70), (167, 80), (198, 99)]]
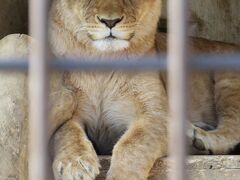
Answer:
[[(188, 66), (192, 70), (236, 70), (240, 71), (240, 54), (232, 55), (198, 55), (190, 58)], [(49, 61), (49, 66), (54, 70), (166, 70), (165, 56), (160, 58), (143, 58), (140, 60), (105, 60), (93, 59), (57, 59)], [(26, 71), (28, 62), (25, 59), (3, 60), (0, 59), (0, 70)]]

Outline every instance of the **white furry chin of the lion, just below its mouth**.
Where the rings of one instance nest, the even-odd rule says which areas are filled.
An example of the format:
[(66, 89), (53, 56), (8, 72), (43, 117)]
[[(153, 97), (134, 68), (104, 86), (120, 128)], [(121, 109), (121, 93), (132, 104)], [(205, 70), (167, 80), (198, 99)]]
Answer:
[(93, 41), (94, 48), (100, 51), (116, 52), (127, 49), (130, 46), (129, 41), (121, 39), (101, 39)]

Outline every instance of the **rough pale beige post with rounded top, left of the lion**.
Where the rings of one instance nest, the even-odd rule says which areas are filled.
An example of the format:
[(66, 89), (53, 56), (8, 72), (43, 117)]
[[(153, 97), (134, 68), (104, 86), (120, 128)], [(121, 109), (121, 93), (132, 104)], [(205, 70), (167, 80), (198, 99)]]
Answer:
[[(26, 56), (28, 41), (24, 35), (4, 38), (0, 57)], [(25, 73), (0, 72), (0, 79), (0, 179), (23, 180), (27, 168), (27, 78)]]

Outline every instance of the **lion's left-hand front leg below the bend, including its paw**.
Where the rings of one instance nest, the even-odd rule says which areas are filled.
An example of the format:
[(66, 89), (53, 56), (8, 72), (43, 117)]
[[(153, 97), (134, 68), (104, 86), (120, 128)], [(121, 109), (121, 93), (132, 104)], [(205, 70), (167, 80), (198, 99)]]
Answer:
[(84, 129), (74, 120), (66, 122), (53, 137), (55, 180), (93, 180), (99, 174), (96, 152)]

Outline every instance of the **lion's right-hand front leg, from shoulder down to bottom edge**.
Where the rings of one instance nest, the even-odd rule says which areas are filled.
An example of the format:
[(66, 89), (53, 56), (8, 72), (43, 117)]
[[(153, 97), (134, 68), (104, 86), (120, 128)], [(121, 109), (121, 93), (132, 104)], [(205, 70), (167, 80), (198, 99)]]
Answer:
[(154, 79), (139, 84), (141, 87), (136, 88), (136, 99), (143, 106), (114, 146), (107, 180), (146, 180), (154, 162), (167, 155), (168, 103), (165, 89)]

